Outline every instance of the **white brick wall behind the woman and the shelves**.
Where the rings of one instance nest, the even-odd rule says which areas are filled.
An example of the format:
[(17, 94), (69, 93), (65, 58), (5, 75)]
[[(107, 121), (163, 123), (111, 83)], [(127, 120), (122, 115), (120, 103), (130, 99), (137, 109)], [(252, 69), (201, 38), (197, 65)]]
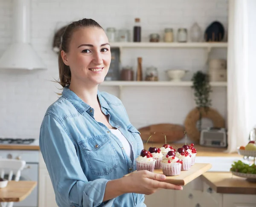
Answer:
[[(132, 29), (134, 18), (140, 17), (143, 40), (151, 32), (163, 34), (166, 27), (190, 28), (195, 21), (204, 30), (219, 20), (227, 28), (227, 0), (32, 0), (31, 42), (47, 65), (47, 71), (0, 71), (0, 137), (38, 138), (40, 124), (47, 107), (57, 99), (60, 88), (51, 82), (58, 78), (57, 55), (52, 52), (52, 38), (64, 23), (83, 17), (93, 18), (103, 28)], [(0, 55), (12, 40), (12, 1), (0, 0)], [(215, 49), (211, 58), (226, 58), (226, 49)], [(204, 69), (205, 49), (125, 49), (123, 65), (136, 68), (137, 57), (143, 57), (143, 68), (153, 65), (161, 80), (165, 70), (188, 69), (185, 79)], [(15, 58), (15, 57), (14, 57)], [(118, 95), (117, 87), (100, 87)], [(123, 103), (136, 127), (156, 123), (183, 124), (187, 113), (195, 107), (189, 87), (127, 87)], [(226, 118), (226, 88), (214, 88), (212, 105)]]

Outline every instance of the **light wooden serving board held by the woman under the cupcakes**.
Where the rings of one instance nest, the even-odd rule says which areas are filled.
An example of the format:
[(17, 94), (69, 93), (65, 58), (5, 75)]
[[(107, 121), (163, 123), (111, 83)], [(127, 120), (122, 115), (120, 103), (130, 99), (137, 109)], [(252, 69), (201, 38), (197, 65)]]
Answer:
[[(191, 166), (190, 170), (181, 171), (180, 175), (166, 176), (166, 179), (163, 182), (172, 183), (175, 185), (186, 185), (211, 168), (212, 165), (209, 163), (195, 163), (193, 166)], [(163, 174), (163, 171), (162, 169), (157, 169), (154, 170), (154, 173)]]

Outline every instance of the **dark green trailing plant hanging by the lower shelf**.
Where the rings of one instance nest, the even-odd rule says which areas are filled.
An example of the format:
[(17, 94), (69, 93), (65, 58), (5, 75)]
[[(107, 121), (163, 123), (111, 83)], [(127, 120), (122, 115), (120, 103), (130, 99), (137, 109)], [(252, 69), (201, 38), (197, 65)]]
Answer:
[(195, 72), (192, 77), (192, 89), (194, 89), (195, 103), (199, 110), (200, 118), (198, 120), (198, 130), (201, 131), (202, 111), (209, 109), (211, 106), (210, 92), (212, 92), (209, 84), (209, 76), (201, 71)]

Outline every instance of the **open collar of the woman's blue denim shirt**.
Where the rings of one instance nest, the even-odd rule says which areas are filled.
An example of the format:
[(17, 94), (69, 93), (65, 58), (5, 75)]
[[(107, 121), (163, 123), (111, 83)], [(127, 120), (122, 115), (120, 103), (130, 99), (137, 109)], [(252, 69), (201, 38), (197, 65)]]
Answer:
[[(64, 87), (62, 96), (70, 101), (73, 106), (77, 109), (77, 111), (81, 114), (86, 112), (88, 109), (90, 109), (90, 106), (85, 103), (81, 98), (78, 97), (73, 91), (69, 89), (69, 86)], [(99, 98), (99, 104), (101, 107), (104, 107), (105, 109), (110, 109), (108, 106), (107, 101), (102, 97), (101, 92), (98, 90), (97, 96)]]

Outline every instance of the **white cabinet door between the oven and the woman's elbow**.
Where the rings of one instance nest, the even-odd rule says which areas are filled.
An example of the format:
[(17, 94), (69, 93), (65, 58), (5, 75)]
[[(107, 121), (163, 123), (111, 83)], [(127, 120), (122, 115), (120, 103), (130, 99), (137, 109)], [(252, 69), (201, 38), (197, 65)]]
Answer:
[(39, 171), (39, 207), (58, 207), (52, 182), (46, 169)]

